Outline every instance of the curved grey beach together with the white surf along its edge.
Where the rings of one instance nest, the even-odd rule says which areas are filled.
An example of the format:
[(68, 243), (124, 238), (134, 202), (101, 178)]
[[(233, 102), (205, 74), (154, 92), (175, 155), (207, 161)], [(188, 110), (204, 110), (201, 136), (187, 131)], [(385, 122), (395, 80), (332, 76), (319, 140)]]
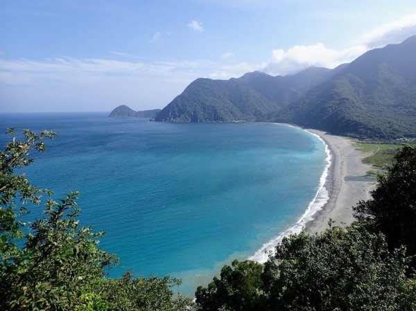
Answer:
[[(278, 123), (279, 124), (279, 123)], [(288, 125), (288, 124), (286, 124)], [(280, 233), (279, 236), (263, 244), (248, 259), (258, 263), (266, 263), (270, 254), (285, 236), (300, 233), (303, 229), (308, 233), (322, 232), (328, 228), (329, 220), (337, 225), (349, 224), (354, 220), (352, 206), (359, 199), (369, 199), (370, 189), (374, 181), (347, 181), (346, 177), (362, 177), (370, 166), (361, 162), (364, 154), (355, 150), (351, 142), (342, 136), (334, 136), (318, 130), (299, 130), (316, 136), (325, 146), (327, 162), (320, 177), (318, 190), (306, 211), (294, 226)], [(355, 200), (355, 202), (354, 202)]]

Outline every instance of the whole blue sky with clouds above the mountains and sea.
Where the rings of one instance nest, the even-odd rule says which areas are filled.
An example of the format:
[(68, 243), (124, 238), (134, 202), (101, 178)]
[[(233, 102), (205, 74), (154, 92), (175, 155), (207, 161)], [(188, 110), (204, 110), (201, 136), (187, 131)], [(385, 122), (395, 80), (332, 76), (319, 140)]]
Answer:
[(411, 35), (415, 0), (1, 0), (0, 112), (162, 109), (196, 78), (334, 68)]

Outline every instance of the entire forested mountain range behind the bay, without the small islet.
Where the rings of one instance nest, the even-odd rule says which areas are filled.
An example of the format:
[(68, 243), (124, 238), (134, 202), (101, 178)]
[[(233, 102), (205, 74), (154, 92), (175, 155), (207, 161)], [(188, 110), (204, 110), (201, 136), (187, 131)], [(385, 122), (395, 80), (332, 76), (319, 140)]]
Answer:
[(336, 69), (272, 77), (198, 79), (156, 121), (272, 121), (332, 134), (392, 140), (416, 137), (416, 36), (377, 48)]

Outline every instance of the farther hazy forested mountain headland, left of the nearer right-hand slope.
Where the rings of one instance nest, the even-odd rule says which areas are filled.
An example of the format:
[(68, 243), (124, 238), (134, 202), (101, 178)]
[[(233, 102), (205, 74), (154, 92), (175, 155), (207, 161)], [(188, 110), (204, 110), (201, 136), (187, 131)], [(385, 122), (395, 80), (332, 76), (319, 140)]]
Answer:
[(334, 72), (314, 67), (296, 75), (277, 77), (255, 71), (238, 79), (200, 78), (162, 109), (155, 121), (259, 120), (297, 100)]

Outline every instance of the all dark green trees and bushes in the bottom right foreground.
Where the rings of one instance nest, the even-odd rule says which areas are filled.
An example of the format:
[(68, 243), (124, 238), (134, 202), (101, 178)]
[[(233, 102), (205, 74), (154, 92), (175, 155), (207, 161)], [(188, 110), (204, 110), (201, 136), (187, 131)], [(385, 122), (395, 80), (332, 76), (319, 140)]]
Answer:
[(284, 238), (263, 266), (226, 265), (198, 287), (198, 310), (416, 310), (416, 147), (354, 209), (346, 229)]

